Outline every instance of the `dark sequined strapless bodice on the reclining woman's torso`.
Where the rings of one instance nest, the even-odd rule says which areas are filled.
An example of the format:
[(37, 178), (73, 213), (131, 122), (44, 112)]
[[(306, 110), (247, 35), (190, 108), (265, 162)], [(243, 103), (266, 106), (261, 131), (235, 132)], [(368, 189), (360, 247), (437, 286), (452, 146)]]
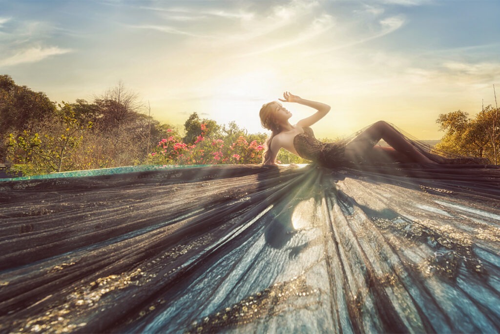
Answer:
[(298, 155), (325, 167), (335, 167), (348, 163), (344, 159), (343, 142), (323, 143), (314, 137), (312, 129), (304, 127), (304, 132), (293, 138), (293, 146)]

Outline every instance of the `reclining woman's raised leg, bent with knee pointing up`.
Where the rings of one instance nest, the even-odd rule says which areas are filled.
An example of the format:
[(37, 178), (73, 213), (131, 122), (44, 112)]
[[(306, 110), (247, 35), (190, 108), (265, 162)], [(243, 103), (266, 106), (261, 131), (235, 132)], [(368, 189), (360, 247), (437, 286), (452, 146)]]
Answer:
[(345, 146), (345, 155), (353, 161), (356, 160), (356, 157), (369, 155), (373, 146), (380, 139), (385, 140), (398, 153), (404, 154), (412, 162), (435, 163), (411, 145), (399, 131), (384, 121), (374, 123), (352, 139)]

